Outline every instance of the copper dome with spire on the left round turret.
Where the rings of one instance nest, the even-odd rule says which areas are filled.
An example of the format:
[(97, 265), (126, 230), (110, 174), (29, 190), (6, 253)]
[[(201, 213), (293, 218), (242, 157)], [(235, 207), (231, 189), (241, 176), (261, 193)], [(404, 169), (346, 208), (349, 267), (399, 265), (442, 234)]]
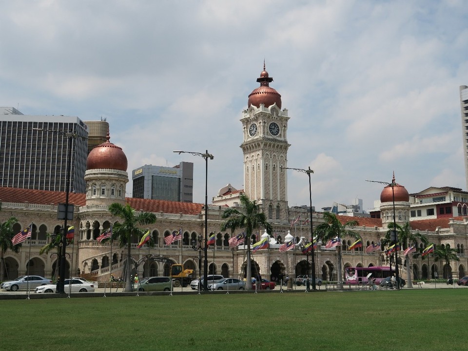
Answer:
[(103, 168), (127, 171), (127, 156), (121, 147), (114, 145), (109, 139), (109, 132), (107, 132), (107, 141), (91, 150), (86, 160), (86, 170)]

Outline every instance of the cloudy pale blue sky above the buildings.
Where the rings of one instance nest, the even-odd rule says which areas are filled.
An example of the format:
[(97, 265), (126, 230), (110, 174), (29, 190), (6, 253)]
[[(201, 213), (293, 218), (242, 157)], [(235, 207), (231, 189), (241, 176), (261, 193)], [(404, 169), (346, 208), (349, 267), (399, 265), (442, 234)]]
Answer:
[[(289, 111), (288, 167), (312, 206), (373, 208), (385, 185), (466, 189), (464, 0), (0, 0), (0, 106), (106, 118), (133, 169), (194, 163), (194, 202), (243, 189), (256, 78)], [(288, 171), (290, 206), (309, 204)]]

